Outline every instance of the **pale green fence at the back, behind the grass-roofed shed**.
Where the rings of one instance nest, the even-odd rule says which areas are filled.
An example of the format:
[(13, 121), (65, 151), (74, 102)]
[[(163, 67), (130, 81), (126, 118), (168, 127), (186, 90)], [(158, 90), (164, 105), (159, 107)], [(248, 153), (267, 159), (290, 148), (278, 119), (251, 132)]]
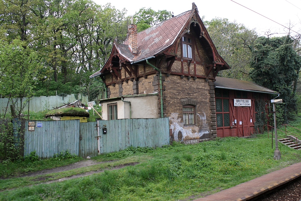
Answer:
[[(59, 107), (61, 105), (64, 105), (64, 103), (72, 103), (76, 99), (82, 100), (82, 103), (85, 104), (86, 106), (88, 105), (88, 96), (83, 95), (83, 94), (68, 94), (66, 96), (39, 96), (39, 97), (31, 97), (30, 98), (30, 103), (29, 103), (29, 110), (34, 111), (34, 112), (41, 112), (44, 110), (51, 110), (53, 107)], [(101, 99), (104, 97), (104, 92), (101, 94), (98, 94), (97, 99)], [(16, 99), (13, 99), (16, 100)], [(9, 104), (7, 104), (8, 98), (0, 98), (0, 113), (4, 113), (6, 106), (8, 105), (8, 112), (10, 112), (10, 105), (11, 101)], [(24, 98), (22, 100), (23, 103), (26, 103), (25, 108), (23, 111), (28, 110), (28, 104), (27, 104), (27, 99)], [(17, 101), (17, 106), (16, 108), (19, 108), (21, 105), (20, 100)]]

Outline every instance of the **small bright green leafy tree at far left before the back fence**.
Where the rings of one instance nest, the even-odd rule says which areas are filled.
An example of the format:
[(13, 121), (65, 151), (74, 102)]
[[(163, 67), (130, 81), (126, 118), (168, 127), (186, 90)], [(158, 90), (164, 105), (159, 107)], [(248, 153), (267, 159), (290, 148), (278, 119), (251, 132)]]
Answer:
[(23, 46), (24, 42), (18, 39), (14, 39), (11, 44), (0, 43), (0, 93), (10, 94), (14, 98), (10, 101), (19, 117), (43, 68), (37, 53)]

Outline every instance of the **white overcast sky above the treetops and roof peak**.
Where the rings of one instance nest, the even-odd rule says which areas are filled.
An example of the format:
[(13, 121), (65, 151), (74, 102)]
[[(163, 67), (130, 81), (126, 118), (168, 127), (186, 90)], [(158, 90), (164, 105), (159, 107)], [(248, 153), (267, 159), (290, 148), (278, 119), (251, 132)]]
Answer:
[[(234, 0), (235, 2), (246, 6), (284, 26), (291, 23), (292, 30), (301, 33), (301, 1), (300, 0)], [(140, 8), (152, 8), (153, 10), (167, 10), (178, 15), (182, 12), (191, 10), (192, 2), (195, 2), (200, 16), (205, 16), (205, 20), (211, 20), (214, 17), (228, 18), (230, 21), (236, 20), (237, 23), (243, 23), (249, 29), (255, 28), (258, 35), (263, 36), (266, 31), (271, 33), (284, 34), (284, 27), (256, 14), (247, 8), (244, 8), (230, 0), (192, 0), (192, 1), (164, 1), (164, 0), (94, 0), (99, 5), (111, 3), (117, 9), (126, 8), (127, 15), (133, 15)], [(295, 6), (293, 6), (293, 5)], [(300, 9), (299, 9), (300, 8)], [(281, 36), (273, 35), (273, 36)]]

